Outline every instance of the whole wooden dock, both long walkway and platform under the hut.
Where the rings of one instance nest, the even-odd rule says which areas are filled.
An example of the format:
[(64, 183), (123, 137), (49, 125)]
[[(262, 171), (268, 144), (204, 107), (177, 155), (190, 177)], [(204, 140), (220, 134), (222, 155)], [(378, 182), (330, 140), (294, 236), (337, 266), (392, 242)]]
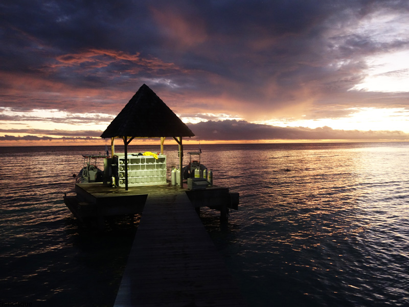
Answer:
[(102, 183), (76, 184), (75, 191), (65, 204), (81, 221), (96, 218), (100, 229), (106, 216), (142, 213), (115, 307), (246, 306), (197, 214), (209, 207), (225, 220), (238, 209), (238, 193)]

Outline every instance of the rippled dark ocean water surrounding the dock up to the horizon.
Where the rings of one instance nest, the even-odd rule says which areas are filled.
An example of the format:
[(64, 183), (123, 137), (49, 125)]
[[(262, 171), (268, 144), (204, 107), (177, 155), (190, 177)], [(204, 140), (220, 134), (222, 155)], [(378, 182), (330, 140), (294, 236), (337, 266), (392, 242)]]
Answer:
[[(201, 219), (249, 306), (409, 305), (409, 143), (201, 149), (214, 183), (240, 193), (228, 223)], [(113, 305), (140, 216), (98, 233), (62, 200), (81, 154), (103, 151), (0, 147), (2, 305)], [(165, 154), (169, 170), (177, 147)]]

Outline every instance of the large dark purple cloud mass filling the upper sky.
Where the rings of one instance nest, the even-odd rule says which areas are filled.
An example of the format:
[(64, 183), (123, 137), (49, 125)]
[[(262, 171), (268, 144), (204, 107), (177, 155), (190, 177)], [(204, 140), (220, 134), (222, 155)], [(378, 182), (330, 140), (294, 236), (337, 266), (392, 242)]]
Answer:
[(367, 76), (368, 57), (409, 47), (407, 35), (357, 30), (375, 13), (407, 27), (403, 0), (21, 0), (0, 10), (0, 106), (16, 112), (116, 115), (142, 83), (176, 113), (246, 121), (337, 118), (409, 101), (407, 93), (350, 91)]

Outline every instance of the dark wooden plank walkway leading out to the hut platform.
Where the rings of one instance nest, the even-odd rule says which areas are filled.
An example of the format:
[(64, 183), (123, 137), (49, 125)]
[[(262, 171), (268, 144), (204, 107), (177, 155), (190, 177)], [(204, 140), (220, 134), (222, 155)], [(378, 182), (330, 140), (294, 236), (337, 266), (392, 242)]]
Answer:
[(246, 306), (185, 191), (148, 194), (114, 306)]

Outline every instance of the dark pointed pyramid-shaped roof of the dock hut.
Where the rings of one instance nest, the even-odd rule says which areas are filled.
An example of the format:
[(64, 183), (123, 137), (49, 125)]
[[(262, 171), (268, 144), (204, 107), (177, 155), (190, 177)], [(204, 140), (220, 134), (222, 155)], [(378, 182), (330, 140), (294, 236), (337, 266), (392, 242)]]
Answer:
[(146, 84), (105, 129), (101, 138), (193, 137), (193, 132)]

